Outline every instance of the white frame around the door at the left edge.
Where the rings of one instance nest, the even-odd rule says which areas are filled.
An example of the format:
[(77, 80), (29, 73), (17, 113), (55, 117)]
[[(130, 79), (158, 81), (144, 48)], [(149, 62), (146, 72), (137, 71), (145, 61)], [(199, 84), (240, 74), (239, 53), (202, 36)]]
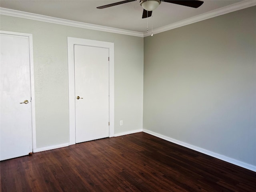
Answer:
[(31, 125), (32, 125), (32, 150), (36, 149), (36, 108), (35, 108), (35, 84), (34, 84), (34, 57), (33, 57), (33, 36), (28, 33), (2, 31), (1, 34), (26, 36), (28, 37), (29, 62), (30, 62), (30, 96), (31, 96)]

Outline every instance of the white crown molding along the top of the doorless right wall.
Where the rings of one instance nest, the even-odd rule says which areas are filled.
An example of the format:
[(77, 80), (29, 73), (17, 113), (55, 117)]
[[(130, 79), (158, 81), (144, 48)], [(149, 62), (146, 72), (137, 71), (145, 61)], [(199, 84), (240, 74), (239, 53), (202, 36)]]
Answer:
[[(164, 32), (164, 31), (168, 31), (168, 30), (171, 30), (171, 29), (175, 29), (175, 28), (178, 28), (178, 27), (182, 27), (182, 26), (185, 26), (185, 25), (188, 25), (188, 24), (192, 24), (192, 23), (195, 23), (195, 22), (199, 22), (199, 21), (202, 21), (202, 20), (206, 20), (206, 19), (209, 19), (209, 18), (213, 18), (213, 17), (216, 17), (216, 16), (227, 14), (227, 13), (230, 13), (230, 12), (234, 12), (234, 11), (237, 11), (237, 10), (240, 10), (240, 9), (252, 7), (252, 6), (255, 6), (255, 5), (256, 5), (255, 0), (245, 0), (245, 1), (242, 1), (242, 2), (238, 2), (238, 3), (232, 4), (232, 5), (228, 5), (228, 6), (225, 6), (225, 7), (222, 7), (222, 8), (218, 8), (216, 10), (212, 10), (212, 11), (200, 14), (198, 16), (194, 16), (194, 17), (191, 17), (191, 18), (188, 18), (188, 19), (185, 19), (185, 20), (181, 20), (179, 22), (172, 23), (170, 25), (166, 25), (166, 26), (163, 26), (163, 27), (160, 27), (160, 28), (156, 28), (156, 29), (154, 29), (154, 34), (158, 34), (158, 33)], [(151, 34), (148, 34), (146, 32), (144, 33), (144, 37), (150, 36), (150, 35)]]

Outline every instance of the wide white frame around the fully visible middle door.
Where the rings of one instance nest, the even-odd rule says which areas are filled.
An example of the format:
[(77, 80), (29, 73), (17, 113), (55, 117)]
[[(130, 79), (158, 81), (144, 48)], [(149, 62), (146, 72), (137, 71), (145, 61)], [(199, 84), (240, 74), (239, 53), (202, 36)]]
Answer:
[(74, 45), (108, 48), (109, 50), (109, 137), (114, 137), (114, 43), (67, 37), (69, 145), (76, 144)]

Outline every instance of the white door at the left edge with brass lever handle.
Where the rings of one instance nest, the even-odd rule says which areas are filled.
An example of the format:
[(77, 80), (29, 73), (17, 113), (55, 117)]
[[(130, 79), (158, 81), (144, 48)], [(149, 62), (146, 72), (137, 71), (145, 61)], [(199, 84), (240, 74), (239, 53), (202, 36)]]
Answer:
[(5, 160), (32, 152), (30, 53), (27, 36), (0, 35), (0, 160)]

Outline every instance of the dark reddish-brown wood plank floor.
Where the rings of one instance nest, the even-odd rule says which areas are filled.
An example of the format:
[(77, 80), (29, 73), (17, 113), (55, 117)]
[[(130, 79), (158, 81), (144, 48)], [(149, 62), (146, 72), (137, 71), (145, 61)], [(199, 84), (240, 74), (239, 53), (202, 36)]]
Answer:
[(2, 192), (256, 191), (256, 172), (140, 132), (0, 162)]

